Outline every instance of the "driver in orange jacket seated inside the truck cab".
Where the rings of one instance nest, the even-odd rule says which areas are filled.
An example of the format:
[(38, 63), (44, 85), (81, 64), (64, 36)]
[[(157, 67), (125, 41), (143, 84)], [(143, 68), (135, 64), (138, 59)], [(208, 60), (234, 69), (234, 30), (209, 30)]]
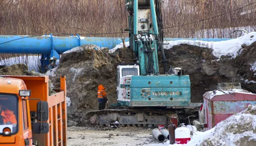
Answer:
[[(12, 125), (13, 127), (16, 127), (17, 125), (17, 120), (16, 120), (16, 116), (15, 114), (13, 114), (14, 112), (6, 109), (4, 111), (3, 106), (0, 104), (0, 125), (4, 124), (4, 125)], [(2, 120), (2, 121), (1, 121)], [(1, 123), (2, 122), (2, 123)]]

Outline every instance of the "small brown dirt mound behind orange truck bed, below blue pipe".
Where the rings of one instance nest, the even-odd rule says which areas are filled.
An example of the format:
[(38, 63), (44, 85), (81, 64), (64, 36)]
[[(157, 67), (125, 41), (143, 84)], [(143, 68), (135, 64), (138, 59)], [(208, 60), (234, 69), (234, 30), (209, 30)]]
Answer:
[(0, 75), (20, 76), (24, 75), (24, 71), (28, 71), (25, 64), (14, 64), (0, 69)]

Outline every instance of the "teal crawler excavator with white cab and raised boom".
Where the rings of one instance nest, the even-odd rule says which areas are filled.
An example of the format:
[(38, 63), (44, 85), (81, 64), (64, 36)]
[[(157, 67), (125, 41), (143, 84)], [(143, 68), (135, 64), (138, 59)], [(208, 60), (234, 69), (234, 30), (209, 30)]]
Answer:
[[(163, 49), (161, 0), (126, 0), (130, 48), (136, 63), (117, 66), (117, 103), (87, 113), (93, 125), (167, 125), (171, 115), (197, 118), (200, 103), (190, 103), (190, 80), (180, 66), (170, 66)], [(158, 59), (161, 54), (161, 59)], [(159, 63), (163, 66), (160, 75)]]

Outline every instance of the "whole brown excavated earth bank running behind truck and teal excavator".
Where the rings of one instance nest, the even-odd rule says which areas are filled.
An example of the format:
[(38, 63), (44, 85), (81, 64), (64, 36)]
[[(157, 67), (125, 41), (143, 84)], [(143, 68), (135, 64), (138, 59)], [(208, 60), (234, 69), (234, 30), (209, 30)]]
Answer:
[[(63, 54), (59, 66), (47, 72), (54, 88), (59, 88), (59, 77), (67, 78), (67, 96), (71, 100), (68, 106), (69, 126), (84, 126), (84, 114), (97, 110), (97, 87), (106, 87), (109, 104), (116, 103), (116, 66), (118, 63), (135, 62), (130, 48), (119, 48), (109, 53), (108, 48), (95, 50), (96, 45), (83, 45), (75, 51)], [(174, 46), (165, 50), (167, 64), (182, 66), (191, 82), (191, 102), (202, 102), (206, 91), (215, 90), (217, 83), (240, 82), (242, 88), (256, 93), (256, 71), (251, 65), (256, 62), (256, 42), (241, 46), (241, 54), (231, 59), (212, 55), (210, 48), (188, 44)], [(159, 55), (160, 59), (160, 55)], [(0, 67), (1, 68), (1, 67)], [(22, 64), (3, 67), (0, 75), (32, 75)], [(163, 71), (160, 65), (160, 72)]]

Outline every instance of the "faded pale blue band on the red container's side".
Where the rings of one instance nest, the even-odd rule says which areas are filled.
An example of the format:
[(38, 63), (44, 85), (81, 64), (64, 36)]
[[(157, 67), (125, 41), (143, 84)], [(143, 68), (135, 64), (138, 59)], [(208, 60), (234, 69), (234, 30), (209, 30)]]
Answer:
[(245, 110), (256, 101), (214, 101), (214, 114), (235, 114)]

